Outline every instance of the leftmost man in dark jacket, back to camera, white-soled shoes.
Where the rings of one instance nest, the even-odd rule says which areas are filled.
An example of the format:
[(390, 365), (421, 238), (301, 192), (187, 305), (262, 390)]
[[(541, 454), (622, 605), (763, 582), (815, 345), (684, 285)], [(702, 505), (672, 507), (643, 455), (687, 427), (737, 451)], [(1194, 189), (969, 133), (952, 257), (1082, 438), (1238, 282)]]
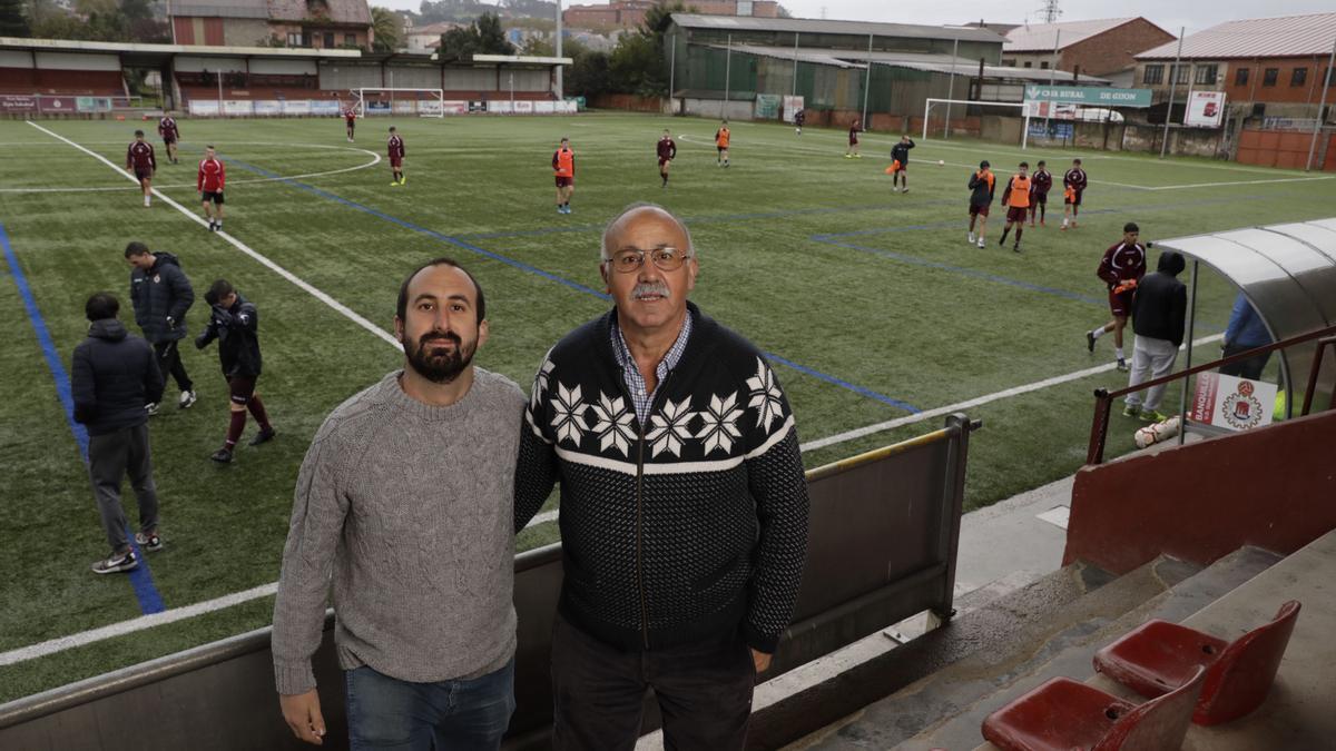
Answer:
[(88, 298), (84, 314), (88, 338), (75, 347), (71, 367), (75, 420), (88, 429), (88, 474), (111, 544), (111, 556), (92, 564), (94, 573), (115, 573), (139, 565), (126, 539), (120, 480), (128, 472), (139, 500), (140, 548), (162, 548), (158, 537), (158, 489), (148, 449), (148, 413), (163, 394), (163, 376), (148, 342), (131, 337), (116, 319), (120, 303), (110, 293)]

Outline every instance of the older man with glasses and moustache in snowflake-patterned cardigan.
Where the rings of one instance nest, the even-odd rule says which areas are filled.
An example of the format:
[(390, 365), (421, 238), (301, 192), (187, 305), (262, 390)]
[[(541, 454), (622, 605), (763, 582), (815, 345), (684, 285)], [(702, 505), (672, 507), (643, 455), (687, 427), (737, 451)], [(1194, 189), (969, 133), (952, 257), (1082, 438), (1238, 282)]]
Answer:
[(632, 206), (604, 233), (616, 306), (544, 358), (516, 529), (561, 482), (560, 750), (631, 750), (653, 687), (668, 748), (741, 748), (756, 673), (798, 599), (807, 485), (762, 353), (687, 302), (685, 226)]

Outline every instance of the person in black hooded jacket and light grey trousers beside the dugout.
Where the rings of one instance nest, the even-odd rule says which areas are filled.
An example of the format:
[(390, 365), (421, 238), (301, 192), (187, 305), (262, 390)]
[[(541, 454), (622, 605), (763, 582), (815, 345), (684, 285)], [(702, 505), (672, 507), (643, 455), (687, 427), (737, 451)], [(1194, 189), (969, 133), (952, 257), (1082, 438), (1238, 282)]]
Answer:
[[(1129, 386), (1173, 371), (1188, 314), (1188, 287), (1178, 281), (1185, 266), (1182, 255), (1166, 250), (1160, 254), (1154, 274), (1146, 274), (1137, 283), (1132, 298), (1132, 330), (1136, 338), (1132, 343)], [(1122, 413), (1146, 422), (1160, 422), (1165, 420), (1158, 412), (1164, 393), (1164, 385), (1146, 389), (1144, 400), (1142, 392), (1133, 392), (1128, 394)]]

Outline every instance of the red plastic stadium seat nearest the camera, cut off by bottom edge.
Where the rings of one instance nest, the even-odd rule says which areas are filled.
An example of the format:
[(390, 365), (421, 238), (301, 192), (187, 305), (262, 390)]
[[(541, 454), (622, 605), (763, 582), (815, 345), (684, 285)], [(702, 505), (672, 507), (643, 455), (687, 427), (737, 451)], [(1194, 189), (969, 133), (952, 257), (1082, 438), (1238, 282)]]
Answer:
[(983, 738), (1005, 751), (1170, 751), (1182, 746), (1205, 668), (1177, 690), (1136, 706), (1055, 678), (983, 720)]

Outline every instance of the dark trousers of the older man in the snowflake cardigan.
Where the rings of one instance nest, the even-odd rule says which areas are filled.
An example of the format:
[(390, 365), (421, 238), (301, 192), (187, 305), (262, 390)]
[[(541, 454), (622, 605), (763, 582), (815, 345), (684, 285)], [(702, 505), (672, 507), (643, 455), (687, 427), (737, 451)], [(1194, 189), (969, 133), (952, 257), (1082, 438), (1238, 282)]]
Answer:
[(557, 616), (552, 695), (557, 751), (632, 751), (655, 690), (667, 751), (743, 748), (756, 668), (740, 633), (653, 652), (623, 652)]

